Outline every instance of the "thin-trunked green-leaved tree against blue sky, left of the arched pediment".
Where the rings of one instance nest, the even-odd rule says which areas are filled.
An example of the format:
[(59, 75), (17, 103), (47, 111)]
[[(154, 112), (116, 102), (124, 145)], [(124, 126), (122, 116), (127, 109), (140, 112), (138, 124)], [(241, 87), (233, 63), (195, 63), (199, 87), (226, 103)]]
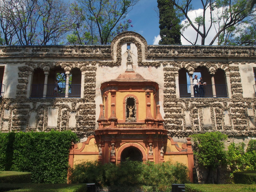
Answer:
[[(132, 20), (124, 21), (128, 12), (139, 0), (78, 0), (78, 4), (71, 6), (72, 13), (78, 18), (73, 25), (73, 37), (69, 36), (70, 43), (108, 44), (119, 32), (127, 31)], [(119, 24), (118, 24), (119, 23)], [(128, 23), (128, 24), (127, 24)], [(96, 30), (95, 30), (96, 29)], [(79, 42), (74, 37), (77, 36)], [(72, 37), (72, 38), (71, 38)], [(73, 41), (72, 41), (73, 40)]]

